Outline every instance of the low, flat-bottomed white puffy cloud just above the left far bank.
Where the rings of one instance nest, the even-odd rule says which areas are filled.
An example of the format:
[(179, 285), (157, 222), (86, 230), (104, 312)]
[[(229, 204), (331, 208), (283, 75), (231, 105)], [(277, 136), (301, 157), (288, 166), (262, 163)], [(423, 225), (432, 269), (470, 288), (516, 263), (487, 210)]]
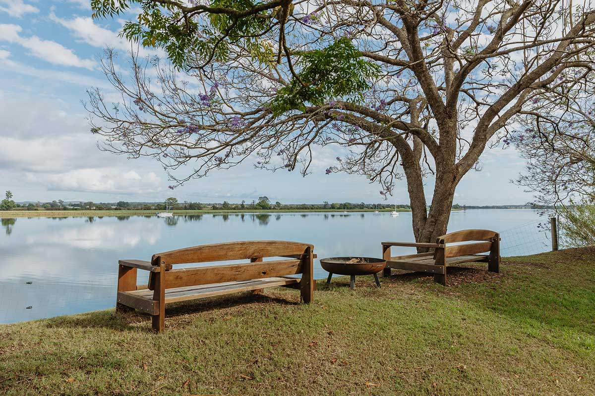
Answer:
[(140, 175), (134, 170), (76, 169), (52, 175), (29, 174), (31, 182), (45, 185), (49, 191), (102, 192), (109, 194), (154, 194), (162, 191), (162, 180), (155, 172)]

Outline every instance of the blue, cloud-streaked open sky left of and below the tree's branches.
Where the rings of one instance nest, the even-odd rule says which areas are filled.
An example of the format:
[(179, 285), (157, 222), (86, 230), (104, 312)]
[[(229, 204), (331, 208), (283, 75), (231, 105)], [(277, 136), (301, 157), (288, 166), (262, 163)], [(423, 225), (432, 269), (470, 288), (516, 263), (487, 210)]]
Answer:
[[(152, 159), (128, 160), (98, 149), (82, 102), (86, 90), (109, 84), (98, 58), (105, 47), (121, 52), (124, 20), (90, 18), (89, 0), (0, 0), (0, 192), (15, 201), (247, 202), (266, 195), (283, 203), (384, 202), (380, 186), (361, 176), (326, 175), (337, 149), (317, 150), (311, 175), (271, 173), (250, 161), (190, 180), (170, 191), (167, 175)], [(145, 53), (150, 51), (142, 50)], [(109, 93), (109, 91), (107, 91)], [(487, 149), (483, 170), (470, 171), (455, 203), (524, 204), (532, 196), (513, 185), (524, 167), (513, 148)], [(431, 201), (433, 180), (427, 180)], [(389, 203), (408, 204), (405, 180)]]

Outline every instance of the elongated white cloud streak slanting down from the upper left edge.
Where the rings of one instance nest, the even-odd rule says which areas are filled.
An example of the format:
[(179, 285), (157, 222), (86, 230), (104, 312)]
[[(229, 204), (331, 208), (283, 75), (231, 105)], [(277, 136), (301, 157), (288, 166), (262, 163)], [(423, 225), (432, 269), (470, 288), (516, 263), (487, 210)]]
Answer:
[(30, 55), (54, 65), (82, 67), (89, 70), (95, 68), (92, 59), (81, 59), (71, 49), (60, 43), (43, 40), (37, 36), (21, 37), (22, 28), (14, 24), (0, 24), (0, 40), (15, 43), (29, 50)]

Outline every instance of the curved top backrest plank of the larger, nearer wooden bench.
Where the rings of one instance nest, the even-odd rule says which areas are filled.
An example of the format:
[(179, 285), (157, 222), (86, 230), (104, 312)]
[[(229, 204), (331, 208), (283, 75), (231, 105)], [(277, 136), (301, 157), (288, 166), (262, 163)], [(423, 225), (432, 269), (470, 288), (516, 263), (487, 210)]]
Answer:
[(226, 261), (259, 257), (288, 256), (304, 254), (308, 243), (284, 240), (246, 240), (242, 242), (215, 243), (194, 246), (153, 255), (151, 262), (159, 259), (165, 264), (184, 264), (189, 262)]

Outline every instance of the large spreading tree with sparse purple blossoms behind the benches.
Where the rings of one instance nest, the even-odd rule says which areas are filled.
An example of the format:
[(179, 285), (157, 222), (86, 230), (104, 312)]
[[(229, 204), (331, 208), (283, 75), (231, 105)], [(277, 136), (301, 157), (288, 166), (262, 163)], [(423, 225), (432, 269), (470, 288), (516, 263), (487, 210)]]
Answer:
[(306, 175), (314, 145), (342, 145), (349, 154), (326, 173), (365, 175), (385, 197), (404, 178), (418, 242), (446, 232), (456, 186), (488, 145), (506, 144), (535, 106), (571, 103), (569, 87), (591, 92), (595, 81), (590, 5), (320, 0), (290, 11), (231, 0), (215, 16), (159, 3), (167, 16), (124, 34), (166, 47), (174, 65), (133, 56), (126, 80), (107, 53), (104, 72), (127, 100), (112, 110), (89, 92), (105, 150), (155, 157), (183, 183), (250, 154), (257, 167)]

